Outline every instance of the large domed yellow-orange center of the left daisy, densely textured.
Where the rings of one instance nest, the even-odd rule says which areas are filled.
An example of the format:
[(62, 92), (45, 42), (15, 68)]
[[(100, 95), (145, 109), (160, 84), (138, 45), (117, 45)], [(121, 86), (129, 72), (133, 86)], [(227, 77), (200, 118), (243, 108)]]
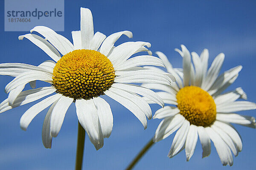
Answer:
[(71, 98), (91, 99), (100, 96), (114, 82), (111, 61), (94, 50), (74, 50), (65, 54), (53, 69), (53, 86)]

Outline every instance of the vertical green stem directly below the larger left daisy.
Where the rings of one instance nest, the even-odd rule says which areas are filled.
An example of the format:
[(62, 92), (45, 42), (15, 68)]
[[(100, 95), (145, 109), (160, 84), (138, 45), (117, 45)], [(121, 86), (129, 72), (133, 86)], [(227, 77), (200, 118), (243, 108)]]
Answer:
[(84, 155), (85, 130), (78, 122), (77, 148), (76, 148), (76, 170), (82, 169)]

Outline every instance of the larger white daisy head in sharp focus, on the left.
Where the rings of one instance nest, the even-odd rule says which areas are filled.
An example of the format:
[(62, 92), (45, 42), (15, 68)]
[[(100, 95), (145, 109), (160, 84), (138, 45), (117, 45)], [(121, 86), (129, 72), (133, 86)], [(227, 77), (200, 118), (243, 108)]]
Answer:
[[(125, 42), (114, 47), (114, 43), (122, 34), (131, 38), (130, 31), (117, 32), (108, 37), (100, 32), (94, 34), (93, 17), (87, 8), (81, 8), (81, 31), (72, 31), (73, 44), (45, 26), (36, 26), (30, 32), (33, 31), (43, 37), (25, 34), (19, 36), (19, 40), (27, 38), (54, 61), (47, 60), (38, 66), (22, 63), (0, 64), (1, 75), (15, 77), (6, 85), (5, 90), (9, 96), (0, 104), (0, 112), (56, 92), (33, 105), (20, 119), (20, 127), (26, 130), (32, 119), (51, 105), (42, 129), (45, 147), (51, 147), (52, 137), (58, 135), (72, 102), (75, 102), (80, 124), (97, 150), (103, 146), (103, 138), (110, 136), (113, 127), (110, 105), (100, 96), (105, 94), (124, 105), (134, 113), (144, 128), (147, 127), (146, 118), (151, 119), (151, 108), (141, 96), (164, 105), (163, 100), (154, 91), (127, 84), (154, 82), (169, 85), (174, 80), (171, 74), (161, 74), (159, 77), (156, 71), (140, 67), (163, 66), (159, 58), (151, 55), (130, 58), (141, 51), (148, 51), (150, 54), (151, 51), (145, 48), (150, 47), (150, 43)], [(35, 88), (36, 80), (48, 82), (51, 86), (23, 91), (27, 83)]]

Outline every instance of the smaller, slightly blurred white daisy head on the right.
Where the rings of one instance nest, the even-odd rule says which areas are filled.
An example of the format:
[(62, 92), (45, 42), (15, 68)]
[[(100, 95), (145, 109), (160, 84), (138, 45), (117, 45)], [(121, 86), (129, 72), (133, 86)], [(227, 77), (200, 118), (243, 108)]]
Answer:
[(222, 164), (231, 166), (233, 164), (231, 151), (237, 156), (242, 149), (242, 142), (230, 123), (253, 128), (256, 125), (254, 117), (234, 113), (256, 109), (256, 104), (253, 102), (236, 101), (239, 98), (247, 98), (241, 88), (221, 94), (236, 80), (242, 66), (231, 68), (218, 76), (224, 61), (223, 53), (218, 54), (207, 71), (209, 57), (207, 49), (204, 49), (200, 57), (195, 52), (191, 53), (194, 64), (191, 62), (187, 48), (181, 45), (181, 49), (182, 51), (175, 50), (183, 57), (183, 69), (173, 68), (167, 57), (157, 52), (167, 71), (176, 77), (176, 83), (143, 85), (146, 88), (161, 90), (157, 94), (163, 101), (175, 105), (175, 107), (165, 106), (154, 114), (154, 119), (163, 119), (155, 132), (154, 142), (165, 139), (177, 130), (168, 156), (172, 158), (185, 149), (186, 160), (189, 161), (198, 137), (202, 144), (203, 158), (209, 156), (212, 140)]

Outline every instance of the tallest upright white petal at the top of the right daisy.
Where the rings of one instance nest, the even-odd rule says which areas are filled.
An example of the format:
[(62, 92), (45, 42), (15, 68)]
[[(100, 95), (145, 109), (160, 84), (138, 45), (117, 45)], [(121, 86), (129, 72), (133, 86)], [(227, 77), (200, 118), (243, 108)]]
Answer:
[(185, 47), (185, 45), (181, 45), (181, 49), (183, 52), (183, 74), (184, 74), (184, 78), (183, 78), (183, 84), (184, 86), (188, 86), (189, 85), (189, 77), (190, 77), (190, 67), (191, 67), (191, 56), (190, 53), (188, 51), (188, 49)]

